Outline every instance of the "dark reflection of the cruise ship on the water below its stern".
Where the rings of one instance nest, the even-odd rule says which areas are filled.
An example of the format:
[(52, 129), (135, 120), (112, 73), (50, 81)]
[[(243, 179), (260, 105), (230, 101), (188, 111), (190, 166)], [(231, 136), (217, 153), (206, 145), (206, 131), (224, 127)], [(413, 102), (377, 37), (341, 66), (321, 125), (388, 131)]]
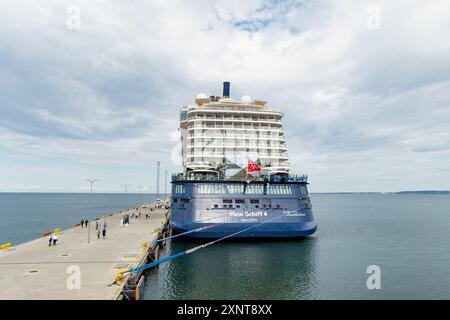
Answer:
[[(174, 239), (165, 254), (201, 243)], [(315, 237), (218, 243), (148, 271), (143, 299), (314, 299), (316, 251)]]

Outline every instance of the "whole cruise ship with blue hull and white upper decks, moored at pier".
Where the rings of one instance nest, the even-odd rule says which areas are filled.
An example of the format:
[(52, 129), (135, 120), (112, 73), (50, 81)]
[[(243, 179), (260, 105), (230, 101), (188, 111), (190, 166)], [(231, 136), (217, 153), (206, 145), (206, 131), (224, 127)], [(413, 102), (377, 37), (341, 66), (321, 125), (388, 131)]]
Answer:
[(180, 111), (183, 172), (171, 226), (191, 237), (303, 237), (317, 229), (308, 177), (291, 173), (283, 113), (266, 101), (199, 94)]

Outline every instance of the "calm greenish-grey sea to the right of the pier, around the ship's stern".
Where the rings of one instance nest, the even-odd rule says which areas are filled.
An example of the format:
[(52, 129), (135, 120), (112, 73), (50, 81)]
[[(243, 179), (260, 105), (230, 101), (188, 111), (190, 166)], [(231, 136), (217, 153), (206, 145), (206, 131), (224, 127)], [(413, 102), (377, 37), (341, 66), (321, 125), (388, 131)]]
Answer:
[[(310, 238), (234, 240), (146, 273), (145, 299), (450, 299), (450, 195), (314, 194)], [(167, 254), (207, 240), (174, 239)], [(381, 270), (369, 290), (367, 267)]]

